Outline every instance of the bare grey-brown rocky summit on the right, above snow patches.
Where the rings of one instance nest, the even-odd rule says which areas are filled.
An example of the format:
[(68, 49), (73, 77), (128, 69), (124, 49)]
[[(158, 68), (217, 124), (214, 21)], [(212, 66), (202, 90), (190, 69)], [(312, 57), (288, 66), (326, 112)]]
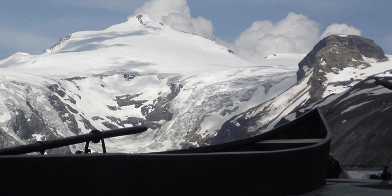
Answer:
[(312, 74), (308, 85), (312, 86), (311, 100), (316, 101), (325, 91), (326, 73), (338, 74), (347, 67), (364, 69), (372, 60), (388, 61), (383, 49), (373, 40), (357, 35), (330, 35), (319, 41), (298, 63), (297, 81)]

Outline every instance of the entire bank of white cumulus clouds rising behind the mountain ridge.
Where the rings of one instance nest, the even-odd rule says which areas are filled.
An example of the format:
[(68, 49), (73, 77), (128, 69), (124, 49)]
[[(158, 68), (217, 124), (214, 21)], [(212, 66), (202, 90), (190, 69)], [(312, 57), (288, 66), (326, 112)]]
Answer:
[(235, 38), (234, 43), (227, 43), (214, 36), (210, 20), (202, 16), (192, 17), (187, 0), (149, 0), (135, 10), (134, 15), (137, 14), (147, 14), (177, 30), (215, 39), (232, 49), (237, 56), (250, 61), (270, 53), (308, 53), (321, 38), (331, 34), (361, 35), (361, 30), (353, 26), (332, 24), (320, 36), (321, 25), (318, 22), (290, 12), (276, 23), (270, 20), (255, 21)]

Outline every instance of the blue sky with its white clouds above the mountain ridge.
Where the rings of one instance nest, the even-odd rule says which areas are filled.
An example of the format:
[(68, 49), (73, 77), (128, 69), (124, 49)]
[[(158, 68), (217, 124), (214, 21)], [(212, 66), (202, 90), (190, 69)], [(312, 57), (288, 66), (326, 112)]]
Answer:
[[(148, 12), (148, 15), (159, 12), (161, 14), (156, 15), (155, 19), (160, 20), (164, 16), (164, 22), (176, 28), (200, 32), (198, 34), (238, 51), (237, 54), (245, 59), (269, 52), (307, 53), (320, 36), (323, 33), (325, 35), (327, 27), (331, 32), (346, 30), (360, 34), (374, 40), (385, 53), (392, 54), (392, 3), (389, 0), (0, 2), (0, 59), (15, 52), (40, 54), (68, 34), (82, 30), (102, 30), (139, 12)], [(175, 15), (177, 18), (174, 15), (169, 17), (172, 12), (179, 13)], [(177, 23), (179, 16), (188, 20), (185, 25)], [(337, 25), (330, 26), (332, 24)], [(303, 40), (300, 35), (307, 40)]]

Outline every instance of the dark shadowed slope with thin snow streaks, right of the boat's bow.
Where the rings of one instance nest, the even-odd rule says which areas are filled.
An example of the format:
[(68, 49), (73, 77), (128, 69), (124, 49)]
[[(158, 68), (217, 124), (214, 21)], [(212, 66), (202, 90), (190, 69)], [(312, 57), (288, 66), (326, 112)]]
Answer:
[[(343, 165), (392, 164), (392, 91), (373, 81), (364, 80), (321, 107), (332, 131), (330, 151)], [(372, 94), (376, 88), (385, 93)], [(359, 90), (369, 93), (352, 96)]]

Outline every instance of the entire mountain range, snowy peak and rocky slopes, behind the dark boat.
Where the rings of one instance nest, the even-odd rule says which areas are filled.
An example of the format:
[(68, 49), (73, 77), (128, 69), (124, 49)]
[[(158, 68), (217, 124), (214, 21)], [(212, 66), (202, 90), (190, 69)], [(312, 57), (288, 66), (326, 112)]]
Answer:
[(366, 162), (359, 155), (364, 149), (348, 152), (355, 145), (339, 141), (350, 134), (364, 143), (377, 140), (368, 137), (370, 128), (356, 130), (370, 114), (391, 107), (384, 99), (392, 91), (372, 80), (392, 76), (389, 57), (366, 38), (331, 35), (309, 54), (270, 54), (253, 64), (213, 40), (138, 15), (104, 30), (70, 34), (40, 55), (1, 60), (0, 147), (135, 125), (149, 129), (105, 140), (107, 150), (199, 147), (265, 132), (321, 107), (337, 158)]

